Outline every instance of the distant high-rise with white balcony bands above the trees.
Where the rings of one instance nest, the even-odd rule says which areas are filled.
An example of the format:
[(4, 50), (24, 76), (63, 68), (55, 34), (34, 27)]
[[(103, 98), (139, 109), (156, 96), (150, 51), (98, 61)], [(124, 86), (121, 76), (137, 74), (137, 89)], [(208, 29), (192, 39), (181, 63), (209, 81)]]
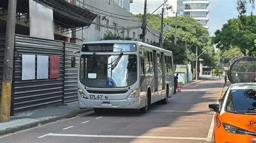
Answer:
[(209, 28), (207, 26), (207, 22), (209, 20), (207, 17), (207, 14), (209, 13), (207, 7), (210, 2), (207, 0), (173, 0), (169, 3), (173, 8), (173, 12), (170, 10), (168, 12), (170, 17), (175, 16), (175, 12), (178, 12), (178, 16), (192, 17), (198, 20), (198, 22), (200, 22), (205, 28)]

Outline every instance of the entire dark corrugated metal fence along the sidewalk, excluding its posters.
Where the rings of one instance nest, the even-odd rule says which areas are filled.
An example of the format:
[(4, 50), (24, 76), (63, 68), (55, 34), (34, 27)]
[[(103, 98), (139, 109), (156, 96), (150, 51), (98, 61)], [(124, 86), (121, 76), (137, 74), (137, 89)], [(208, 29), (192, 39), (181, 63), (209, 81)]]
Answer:
[[(5, 35), (0, 34), (0, 91), (2, 89), (4, 45)], [(66, 43), (64, 41), (34, 38), (26, 35), (16, 35), (15, 49), (18, 52), (18, 57), (14, 62), (12, 115), (15, 112), (31, 110), (49, 104), (63, 104), (77, 101), (78, 64), (76, 68), (71, 68), (71, 56), (74, 51), (80, 49), (80, 45)], [(22, 80), (23, 54), (59, 56), (59, 78)], [(76, 54), (77, 62), (78, 56), (79, 54)], [(37, 74), (36, 72), (35, 75)]]

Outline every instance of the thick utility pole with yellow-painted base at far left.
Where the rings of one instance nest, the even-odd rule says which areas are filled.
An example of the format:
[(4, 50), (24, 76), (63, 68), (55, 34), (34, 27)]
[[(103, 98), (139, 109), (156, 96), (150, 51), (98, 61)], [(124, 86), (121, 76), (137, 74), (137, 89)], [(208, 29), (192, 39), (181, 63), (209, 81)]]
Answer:
[(16, 0), (9, 0), (8, 15), (7, 15), (7, 22), (6, 22), (6, 35), (5, 35), (0, 122), (6, 122), (10, 120), (11, 86), (12, 86), (11, 83), (12, 83), (12, 70), (14, 66), (16, 5), (17, 5)]

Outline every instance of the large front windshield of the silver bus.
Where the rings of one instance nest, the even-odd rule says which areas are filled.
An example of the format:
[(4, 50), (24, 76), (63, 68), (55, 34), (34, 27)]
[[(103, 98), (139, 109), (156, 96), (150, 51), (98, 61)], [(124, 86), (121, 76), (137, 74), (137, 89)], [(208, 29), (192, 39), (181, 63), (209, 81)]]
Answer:
[(127, 87), (137, 81), (137, 56), (82, 55), (80, 58), (80, 82), (87, 87)]

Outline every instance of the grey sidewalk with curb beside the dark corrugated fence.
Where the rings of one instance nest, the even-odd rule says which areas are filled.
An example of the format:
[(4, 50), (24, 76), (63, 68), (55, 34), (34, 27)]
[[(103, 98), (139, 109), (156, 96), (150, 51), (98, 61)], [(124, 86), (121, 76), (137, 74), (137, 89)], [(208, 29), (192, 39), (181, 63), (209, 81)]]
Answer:
[(0, 123), (0, 135), (70, 118), (89, 111), (92, 111), (92, 109), (79, 109), (78, 103), (72, 102), (63, 105), (49, 105), (45, 108), (17, 113), (17, 115), (10, 118), (9, 122)]

